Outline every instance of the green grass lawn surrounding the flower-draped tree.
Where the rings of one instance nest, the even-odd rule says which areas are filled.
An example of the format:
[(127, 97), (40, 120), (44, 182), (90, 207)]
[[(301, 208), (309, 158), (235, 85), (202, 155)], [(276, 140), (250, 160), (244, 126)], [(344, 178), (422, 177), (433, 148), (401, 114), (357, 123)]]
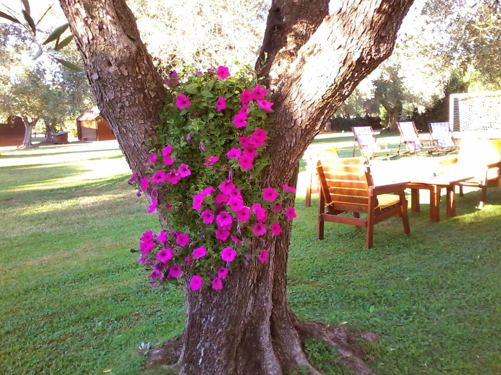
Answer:
[[(158, 223), (120, 155), (96, 142), (0, 156), (0, 373), (142, 373), (138, 344), (181, 332), (180, 290), (149, 288), (129, 252)], [(408, 237), (396, 218), (383, 221), (370, 250), (349, 225), (326, 223), (316, 240), (316, 201), (298, 197), (293, 310), (380, 334), (367, 348), (381, 375), (501, 374), (501, 193), (488, 196), (477, 210), (479, 192), (465, 194), (438, 223), (423, 204)], [(322, 345), (307, 351), (325, 373), (346, 373)]]

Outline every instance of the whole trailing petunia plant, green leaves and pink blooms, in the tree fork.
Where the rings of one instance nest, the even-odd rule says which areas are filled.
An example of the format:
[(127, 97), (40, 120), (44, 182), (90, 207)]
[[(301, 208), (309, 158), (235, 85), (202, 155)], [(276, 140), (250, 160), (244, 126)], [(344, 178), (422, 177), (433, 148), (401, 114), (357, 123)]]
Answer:
[(138, 261), (152, 286), (185, 278), (192, 290), (221, 289), (237, 266), (268, 261), (262, 238), (296, 217), (285, 203), (293, 187), (260, 186), (273, 102), (248, 68), (170, 74), (165, 85), (149, 173), (129, 183), (150, 193), (148, 212), (161, 211), (169, 230), (145, 231)]

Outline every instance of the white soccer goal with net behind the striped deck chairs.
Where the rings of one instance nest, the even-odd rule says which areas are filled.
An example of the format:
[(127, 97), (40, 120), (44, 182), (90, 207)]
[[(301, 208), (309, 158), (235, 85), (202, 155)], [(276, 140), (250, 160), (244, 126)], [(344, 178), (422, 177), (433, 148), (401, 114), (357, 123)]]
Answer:
[(451, 94), (449, 127), (462, 136), (501, 139), (501, 91)]

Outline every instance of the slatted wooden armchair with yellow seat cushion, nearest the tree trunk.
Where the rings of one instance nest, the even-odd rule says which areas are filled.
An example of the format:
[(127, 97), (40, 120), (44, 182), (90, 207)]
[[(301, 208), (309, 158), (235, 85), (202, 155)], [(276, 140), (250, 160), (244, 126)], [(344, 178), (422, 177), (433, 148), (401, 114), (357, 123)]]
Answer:
[[(321, 194), (318, 205), (318, 239), (324, 239), (324, 222), (341, 222), (367, 228), (367, 248), (373, 246), (374, 224), (401, 217), (404, 233), (410, 234), (405, 182), (374, 186), (367, 159), (340, 158), (317, 164)], [(395, 193), (395, 194), (390, 194)], [(325, 208), (327, 207), (327, 212)], [(340, 215), (353, 212), (353, 217)], [(367, 218), (361, 218), (366, 213)]]

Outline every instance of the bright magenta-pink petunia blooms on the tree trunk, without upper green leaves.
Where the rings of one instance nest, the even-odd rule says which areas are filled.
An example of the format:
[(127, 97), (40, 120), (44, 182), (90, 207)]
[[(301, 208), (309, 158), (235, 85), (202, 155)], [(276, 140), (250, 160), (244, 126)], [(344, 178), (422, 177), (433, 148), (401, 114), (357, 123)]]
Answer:
[[(208, 69), (207, 73), (213, 74), (214, 71)], [(199, 71), (196, 74), (203, 73)], [(229, 69), (225, 66), (218, 66), (215, 74), (222, 80), (230, 76)], [(177, 73), (173, 70), (168, 79), (169, 87), (173, 87), (171, 83), (177, 77)], [(176, 83), (178, 83), (177, 80)], [(252, 179), (253, 176), (250, 174), (252, 171), (249, 169), (254, 166), (259, 155), (258, 152), (264, 148), (268, 139), (265, 129), (254, 125), (247, 126), (248, 116), (253, 111), (272, 110), (273, 102), (265, 99), (266, 93), (266, 88), (259, 84), (253, 89), (245, 88), (240, 93), (241, 107), (231, 121), (240, 130), (236, 135), (234, 130), (231, 131), (234, 140), (232, 140), (230, 148), (225, 150), (226, 159), (223, 155), (210, 155), (210, 151), (207, 151), (209, 155), (204, 154), (205, 147), (203, 141), (199, 141), (199, 139), (197, 140), (197, 142), (199, 141), (198, 150), (190, 145), (191, 149), (196, 150), (195, 152), (200, 152), (198, 155), (195, 154), (195, 160), (200, 161), (196, 163), (190, 161), (192, 165), (196, 165), (195, 170), (193, 170), (195, 177), (196, 168), (200, 164), (204, 168), (213, 170), (214, 172), (211, 173), (216, 173), (215, 175), (221, 169), (228, 170), (228, 177), (219, 180), (213, 186), (200, 188), (201, 191), (192, 196), (191, 209), (197, 211), (199, 221), (193, 225), (196, 229), (188, 230), (190, 233), (162, 230), (160, 233), (154, 234), (150, 230), (142, 234), (139, 250), (137, 250), (141, 253), (138, 261), (152, 269), (148, 276), (151, 278), (152, 286), (182, 276), (187, 279), (192, 290), (201, 288), (204, 285), (204, 280), (207, 281), (205, 284), (213, 289), (222, 289), (230, 269), (237, 265), (246, 267), (252, 259), (257, 259), (261, 263), (268, 261), (269, 251), (263, 238), (267, 238), (267, 233), (273, 236), (279, 236), (282, 233), (283, 228), (280, 222), (283, 217), (289, 220), (296, 217), (294, 207), (284, 205), (284, 200), (288, 199), (291, 193), (296, 192), (296, 189), (288, 184), (284, 184), (280, 189), (277, 186), (264, 188), (260, 191), (259, 198), (256, 196), (256, 192), (247, 194), (246, 191), (242, 191), (244, 184), (248, 183), (245, 181)], [(192, 100), (199, 99), (192, 98)], [(213, 100), (211, 107), (215, 108), (217, 112), (225, 111), (221, 115), (227, 116), (229, 114), (227, 112), (229, 108), (226, 106), (227, 98), (219, 96)], [(186, 94), (180, 92), (176, 94), (174, 103), (176, 108), (182, 110), (190, 107), (191, 104), (190, 98)], [(230, 108), (233, 105), (234, 101)], [(186, 113), (186, 111), (182, 113)], [(263, 112), (261, 111), (261, 113)], [(192, 115), (193, 117), (199, 116), (198, 113), (192, 113)], [(244, 129), (247, 130), (244, 131)], [(192, 135), (195, 136), (195, 131), (189, 132), (186, 136), (188, 144), (191, 142)], [(180, 141), (177, 140), (177, 143)], [(129, 179), (129, 183), (137, 182), (139, 184), (138, 193), (141, 191), (150, 193), (151, 204), (148, 207), (148, 212), (154, 212), (157, 209), (159, 200), (157, 190), (160, 184), (176, 185), (182, 178), (192, 174), (187, 163), (177, 160), (179, 146), (176, 147), (178, 147), (177, 153), (173, 152), (173, 147), (170, 144), (158, 152), (150, 153), (147, 165), (154, 169), (150, 173), (151, 175), (143, 177), (133, 175)], [(196, 157), (200, 157), (200, 159), (196, 159)], [(173, 167), (174, 163), (177, 167)], [(242, 175), (245, 176), (245, 181), (238, 182), (238, 178), (234, 179), (232, 169), (240, 173), (240, 178)], [(248, 179), (246, 174), (248, 174)], [(186, 180), (183, 183), (190, 183), (189, 186), (186, 185), (187, 191), (192, 188), (190, 186), (197, 186), (196, 183), (191, 185), (191, 180)], [(177, 189), (184, 186), (180, 185)], [(166, 195), (168, 196), (168, 190)], [(249, 196), (253, 198), (249, 198)], [(162, 199), (165, 197), (162, 196)], [(170, 203), (165, 202), (166, 209), (172, 207)], [(178, 207), (175, 207), (173, 211), (177, 209)], [(177, 214), (182, 214), (182, 212)], [(215, 268), (214, 261), (216, 264), (218, 263)], [(206, 264), (210, 264), (210, 266)]]

